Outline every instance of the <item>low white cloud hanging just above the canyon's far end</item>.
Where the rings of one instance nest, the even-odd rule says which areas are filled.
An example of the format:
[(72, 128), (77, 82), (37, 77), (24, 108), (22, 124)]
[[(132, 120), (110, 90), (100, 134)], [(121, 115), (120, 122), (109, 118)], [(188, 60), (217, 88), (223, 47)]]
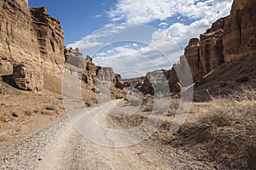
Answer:
[(95, 63), (111, 66), (115, 72), (127, 78), (133, 77), (135, 73), (143, 76), (148, 71), (171, 69), (172, 64), (177, 61), (177, 56), (182, 54), (166, 31), (154, 31), (148, 44), (130, 43), (119, 47), (113, 44), (111, 50), (95, 54)]

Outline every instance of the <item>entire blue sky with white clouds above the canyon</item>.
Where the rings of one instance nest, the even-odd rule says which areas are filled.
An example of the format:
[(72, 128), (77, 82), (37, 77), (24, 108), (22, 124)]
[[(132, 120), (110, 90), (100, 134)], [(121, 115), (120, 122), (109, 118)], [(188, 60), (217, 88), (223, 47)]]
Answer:
[(67, 48), (122, 77), (171, 69), (192, 37), (230, 14), (232, 0), (29, 0), (61, 20)]

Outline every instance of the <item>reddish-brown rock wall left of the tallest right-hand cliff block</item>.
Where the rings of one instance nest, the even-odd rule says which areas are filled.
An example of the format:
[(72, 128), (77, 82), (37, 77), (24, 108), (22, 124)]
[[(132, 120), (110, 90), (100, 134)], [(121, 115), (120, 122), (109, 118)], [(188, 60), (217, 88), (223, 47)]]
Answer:
[(185, 48), (185, 57), (194, 77), (200, 72), (207, 74), (224, 63), (224, 19), (219, 19), (201, 34), (200, 39), (192, 38)]

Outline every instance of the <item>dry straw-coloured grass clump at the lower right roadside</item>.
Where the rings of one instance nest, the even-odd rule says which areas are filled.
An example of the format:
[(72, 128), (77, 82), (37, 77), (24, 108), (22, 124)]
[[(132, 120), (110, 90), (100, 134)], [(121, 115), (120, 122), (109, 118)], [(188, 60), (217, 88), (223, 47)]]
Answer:
[(203, 144), (210, 155), (230, 167), (256, 168), (256, 92), (245, 89), (229, 99), (195, 104), (194, 123), (181, 133)]

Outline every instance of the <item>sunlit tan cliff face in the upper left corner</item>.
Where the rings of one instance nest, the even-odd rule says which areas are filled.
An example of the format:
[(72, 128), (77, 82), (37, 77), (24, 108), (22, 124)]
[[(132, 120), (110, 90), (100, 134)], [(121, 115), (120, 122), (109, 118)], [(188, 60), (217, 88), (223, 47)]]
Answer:
[(0, 11), (0, 56), (6, 61), (39, 66), (38, 37), (27, 2), (0, 1)]

